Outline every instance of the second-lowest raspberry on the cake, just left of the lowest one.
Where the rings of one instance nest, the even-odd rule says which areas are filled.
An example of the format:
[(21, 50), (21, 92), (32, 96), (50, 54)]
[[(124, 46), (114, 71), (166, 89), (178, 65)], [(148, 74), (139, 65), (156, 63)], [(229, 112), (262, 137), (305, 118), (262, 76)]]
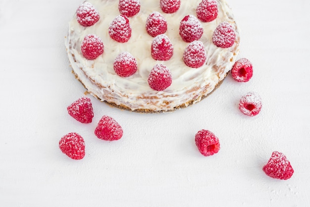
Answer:
[(137, 69), (137, 60), (129, 52), (121, 52), (114, 61), (114, 70), (121, 77), (133, 75)]

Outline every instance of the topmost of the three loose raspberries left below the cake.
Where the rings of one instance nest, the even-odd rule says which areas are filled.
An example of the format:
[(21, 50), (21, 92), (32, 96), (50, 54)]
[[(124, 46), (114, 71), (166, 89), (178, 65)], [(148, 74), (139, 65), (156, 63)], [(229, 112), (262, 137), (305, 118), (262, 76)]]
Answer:
[(81, 123), (91, 123), (94, 117), (90, 98), (81, 97), (67, 107), (70, 116)]

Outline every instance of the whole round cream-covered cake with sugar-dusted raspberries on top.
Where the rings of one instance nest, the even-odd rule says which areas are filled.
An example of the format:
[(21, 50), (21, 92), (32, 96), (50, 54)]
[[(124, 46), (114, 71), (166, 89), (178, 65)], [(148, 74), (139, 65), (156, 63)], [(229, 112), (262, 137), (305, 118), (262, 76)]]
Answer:
[(88, 92), (138, 112), (200, 102), (232, 68), (239, 42), (225, 0), (87, 0), (65, 38)]

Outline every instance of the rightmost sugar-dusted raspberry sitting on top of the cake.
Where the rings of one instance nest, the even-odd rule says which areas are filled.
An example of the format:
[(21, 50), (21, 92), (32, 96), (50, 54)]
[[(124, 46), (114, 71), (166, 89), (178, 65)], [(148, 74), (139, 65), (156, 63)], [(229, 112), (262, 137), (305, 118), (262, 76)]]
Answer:
[(213, 32), (212, 42), (219, 48), (229, 48), (235, 43), (234, 28), (228, 22), (220, 23)]

